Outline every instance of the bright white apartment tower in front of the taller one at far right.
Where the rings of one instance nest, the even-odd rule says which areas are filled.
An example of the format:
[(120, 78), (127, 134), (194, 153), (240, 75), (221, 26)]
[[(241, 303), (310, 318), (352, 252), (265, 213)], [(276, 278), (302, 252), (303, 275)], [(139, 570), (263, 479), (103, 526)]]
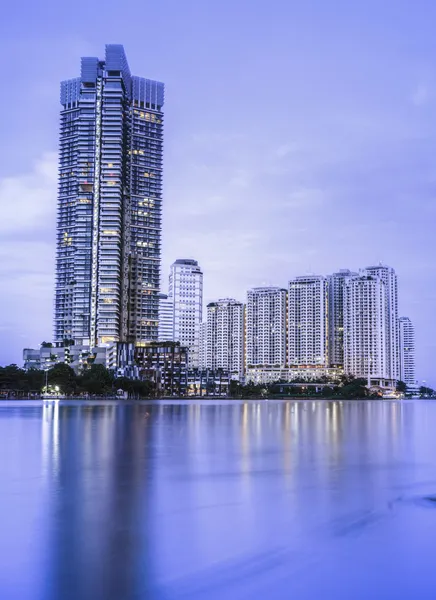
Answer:
[(345, 283), (344, 371), (365, 378), (390, 378), (386, 284), (361, 275)]

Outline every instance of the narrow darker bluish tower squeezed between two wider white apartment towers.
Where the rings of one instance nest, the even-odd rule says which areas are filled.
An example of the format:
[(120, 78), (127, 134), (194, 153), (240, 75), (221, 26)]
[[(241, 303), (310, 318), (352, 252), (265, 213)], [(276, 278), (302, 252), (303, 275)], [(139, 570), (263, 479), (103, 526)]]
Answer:
[(356, 275), (349, 269), (340, 269), (327, 277), (328, 356), (332, 367), (344, 365), (344, 288), (347, 279)]

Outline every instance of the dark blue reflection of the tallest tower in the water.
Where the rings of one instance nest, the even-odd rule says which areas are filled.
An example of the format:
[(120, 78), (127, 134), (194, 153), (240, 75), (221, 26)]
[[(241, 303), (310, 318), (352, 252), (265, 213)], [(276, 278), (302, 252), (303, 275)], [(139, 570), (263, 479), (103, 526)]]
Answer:
[(42, 417), (45, 599), (147, 597), (154, 407), (50, 403)]

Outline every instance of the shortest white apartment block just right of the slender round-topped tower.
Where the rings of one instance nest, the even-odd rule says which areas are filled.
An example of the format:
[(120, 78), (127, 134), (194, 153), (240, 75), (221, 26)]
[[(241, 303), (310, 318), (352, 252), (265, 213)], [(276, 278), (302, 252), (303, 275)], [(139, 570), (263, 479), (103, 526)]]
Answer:
[(233, 376), (244, 372), (244, 305), (226, 298), (207, 305), (208, 369), (224, 369)]

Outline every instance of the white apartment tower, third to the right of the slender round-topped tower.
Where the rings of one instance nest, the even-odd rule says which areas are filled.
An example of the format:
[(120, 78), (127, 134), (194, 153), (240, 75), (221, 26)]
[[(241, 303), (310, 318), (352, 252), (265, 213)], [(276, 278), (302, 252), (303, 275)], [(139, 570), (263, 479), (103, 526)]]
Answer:
[(288, 307), (289, 365), (328, 366), (326, 278), (307, 275), (292, 279)]

